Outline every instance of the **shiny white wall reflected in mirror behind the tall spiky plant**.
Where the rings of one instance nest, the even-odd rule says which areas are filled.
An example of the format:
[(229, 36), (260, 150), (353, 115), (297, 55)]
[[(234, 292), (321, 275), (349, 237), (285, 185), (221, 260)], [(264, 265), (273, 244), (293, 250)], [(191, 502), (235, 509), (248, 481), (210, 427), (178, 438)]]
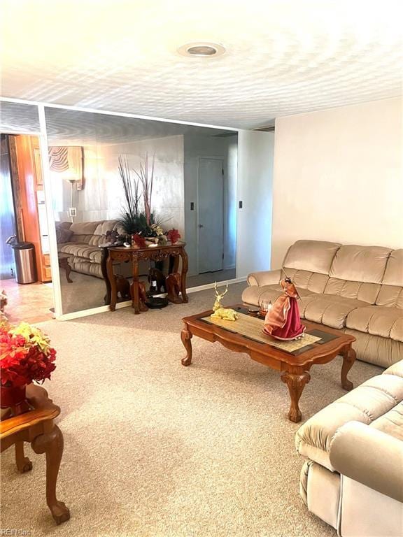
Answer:
[[(75, 222), (111, 220), (122, 213), (124, 194), (118, 172), (118, 157), (127, 157), (129, 168), (139, 170), (148, 152), (149, 170), (155, 155), (153, 209), (164, 219), (164, 228), (184, 232), (183, 136), (149, 138), (111, 145), (85, 146), (85, 186), (74, 192)], [(55, 176), (55, 174), (53, 174)], [(132, 176), (135, 176), (132, 171)], [(69, 220), (70, 185), (64, 182), (61, 220)], [(141, 188), (140, 188), (141, 190)], [(142, 203), (142, 202), (141, 202)], [(60, 210), (60, 209), (59, 209)]]

